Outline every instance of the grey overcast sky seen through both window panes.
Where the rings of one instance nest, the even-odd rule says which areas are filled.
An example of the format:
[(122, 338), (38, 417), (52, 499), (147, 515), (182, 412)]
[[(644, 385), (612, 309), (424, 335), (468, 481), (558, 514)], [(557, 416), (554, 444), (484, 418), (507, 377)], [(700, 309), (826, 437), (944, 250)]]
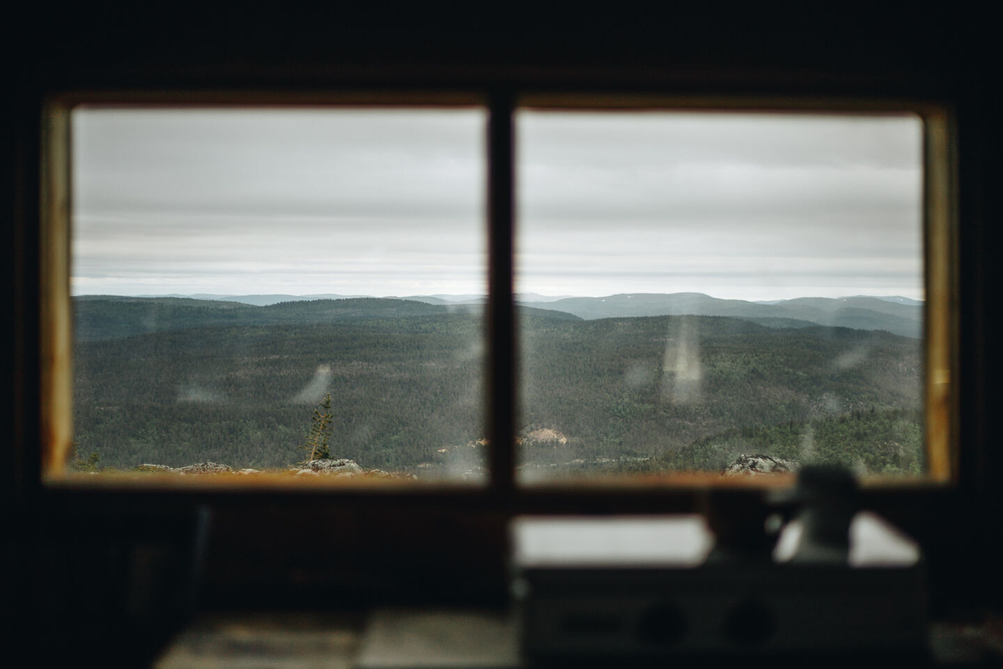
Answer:
[[(73, 113), (74, 294), (485, 291), (479, 109)], [(521, 111), (519, 291), (923, 297), (914, 116)]]

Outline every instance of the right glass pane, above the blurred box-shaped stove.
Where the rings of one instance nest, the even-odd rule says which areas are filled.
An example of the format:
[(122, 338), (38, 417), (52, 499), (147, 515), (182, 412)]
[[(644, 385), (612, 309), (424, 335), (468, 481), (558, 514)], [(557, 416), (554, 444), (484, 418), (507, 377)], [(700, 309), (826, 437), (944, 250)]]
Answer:
[(523, 482), (924, 471), (922, 121), (518, 112)]

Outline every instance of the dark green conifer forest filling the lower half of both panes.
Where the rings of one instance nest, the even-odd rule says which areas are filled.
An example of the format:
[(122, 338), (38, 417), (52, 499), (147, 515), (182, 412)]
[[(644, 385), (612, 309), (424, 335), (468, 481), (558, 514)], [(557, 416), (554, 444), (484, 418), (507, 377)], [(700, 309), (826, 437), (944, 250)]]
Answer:
[[(77, 450), (99, 453), (99, 467), (286, 466), (327, 393), (332, 457), (419, 477), (482, 464), (476, 305), (89, 297), (75, 309)], [(720, 470), (755, 452), (922, 472), (918, 339), (529, 307), (520, 323), (528, 469)], [(531, 437), (543, 429), (561, 441)]]

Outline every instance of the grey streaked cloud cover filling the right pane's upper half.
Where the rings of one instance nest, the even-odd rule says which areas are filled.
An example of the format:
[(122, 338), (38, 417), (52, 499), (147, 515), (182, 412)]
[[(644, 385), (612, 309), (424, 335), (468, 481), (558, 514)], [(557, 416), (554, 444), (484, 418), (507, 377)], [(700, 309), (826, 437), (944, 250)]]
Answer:
[(519, 290), (922, 297), (921, 129), (909, 115), (524, 112)]

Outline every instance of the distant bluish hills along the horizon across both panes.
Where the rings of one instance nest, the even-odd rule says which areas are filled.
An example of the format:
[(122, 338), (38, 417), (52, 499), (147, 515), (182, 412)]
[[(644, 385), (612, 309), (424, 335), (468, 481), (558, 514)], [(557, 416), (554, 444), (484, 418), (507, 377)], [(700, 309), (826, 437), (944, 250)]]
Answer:
[[(450, 310), (474, 313), (482, 310), (485, 303), (483, 296), (473, 295), (410, 296), (399, 299), (306, 299), (304, 296), (237, 295), (232, 296), (232, 301), (221, 299), (220, 296), (205, 297), (207, 299), (88, 295), (74, 298), (77, 340), (91, 341), (214, 325), (326, 323), (354, 318), (433, 315)], [(279, 301), (282, 298), (289, 299)], [(517, 304), (522, 313), (536, 313), (536, 310), (543, 309), (552, 318), (728, 316), (770, 327), (825, 325), (857, 330), (885, 330), (914, 338), (919, 338), (923, 330), (922, 302), (864, 295), (757, 303), (723, 300), (703, 293), (622, 293), (605, 297), (569, 297)]]

